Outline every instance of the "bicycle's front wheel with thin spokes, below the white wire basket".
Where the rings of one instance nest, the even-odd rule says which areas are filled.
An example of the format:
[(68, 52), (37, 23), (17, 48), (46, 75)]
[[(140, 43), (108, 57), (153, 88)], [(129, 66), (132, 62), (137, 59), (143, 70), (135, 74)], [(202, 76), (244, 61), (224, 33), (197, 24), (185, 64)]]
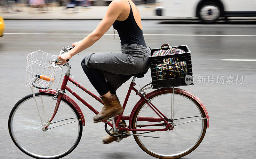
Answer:
[[(52, 117), (57, 100), (49, 93), (35, 93), (43, 124)], [(76, 109), (61, 99), (57, 114), (43, 131), (33, 95), (22, 98), (9, 116), (9, 133), (15, 145), (34, 158), (61, 158), (73, 151), (82, 136), (82, 122)]]

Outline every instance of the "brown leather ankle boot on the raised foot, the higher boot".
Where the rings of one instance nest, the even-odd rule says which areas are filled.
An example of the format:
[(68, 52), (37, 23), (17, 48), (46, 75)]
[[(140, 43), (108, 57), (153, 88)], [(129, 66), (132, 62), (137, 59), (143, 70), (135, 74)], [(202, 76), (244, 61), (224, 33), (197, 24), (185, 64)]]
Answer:
[(118, 115), (124, 111), (115, 94), (112, 94), (108, 98), (105, 98), (105, 97), (100, 97), (100, 98), (103, 100), (104, 106), (101, 112), (93, 117), (94, 123), (101, 122), (112, 116)]

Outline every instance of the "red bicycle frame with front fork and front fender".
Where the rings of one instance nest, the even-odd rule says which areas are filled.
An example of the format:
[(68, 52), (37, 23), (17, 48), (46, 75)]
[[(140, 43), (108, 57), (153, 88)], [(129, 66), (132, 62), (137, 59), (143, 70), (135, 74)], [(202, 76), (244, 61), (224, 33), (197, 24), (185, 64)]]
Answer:
[[(144, 96), (142, 96), (140, 93), (138, 93), (138, 90), (134, 87), (136, 84), (134, 83), (134, 80), (135, 80), (135, 77), (133, 77), (133, 80), (130, 84), (130, 87), (128, 89), (128, 92), (127, 92), (127, 95), (125, 97), (125, 100), (124, 100), (124, 104), (123, 104), (123, 108), (125, 109), (125, 106), (127, 104), (127, 101), (129, 99), (129, 96), (132, 92), (132, 90), (136, 93), (136, 95), (139, 95), (140, 98), (146, 102), (148, 104), (148, 106), (159, 116), (158, 117), (138, 117), (137, 120), (138, 121), (150, 121), (150, 122), (164, 122), (164, 123), (159, 123), (159, 124), (148, 124), (148, 125), (142, 125), (142, 127), (146, 127), (146, 126), (158, 126), (158, 125), (166, 125), (165, 128), (162, 128), (162, 129), (131, 129), (131, 125), (129, 125), (128, 127), (118, 127), (119, 130), (128, 130), (128, 131), (167, 131), (167, 129), (170, 127), (170, 128), (173, 128), (172, 124), (169, 124), (165, 119), (167, 119), (167, 117), (164, 116), (164, 114), (158, 110), (156, 108), (156, 106), (154, 106), (150, 101), (148, 101), (147, 98), (145, 98)], [(94, 112), (95, 114), (98, 114), (99, 112), (97, 110), (95, 110), (90, 104), (88, 104), (86, 101), (84, 101), (83, 98), (81, 98), (79, 95), (77, 95), (72, 89), (70, 89), (68, 86), (67, 86), (67, 83), (68, 81), (70, 81), (71, 83), (75, 84), (76, 87), (79, 87), (80, 89), (82, 89), (84, 92), (86, 92), (87, 94), (91, 95), (94, 99), (96, 99), (97, 101), (99, 101), (101, 104), (104, 104), (104, 102), (96, 95), (94, 95), (92, 92), (90, 92), (89, 90), (87, 90), (86, 88), (84, 88), (82, 85), (80, 85), (79, 83), (77, 83), (75, 80), (71, 79), (69, 77), (69, 73), (65, 73), (65, 76), (64, 76), (64, 79), (63, 79), (63, 82), (62, 82), (62, 85), (60, 87), (60, 90), (59, 90), (59, 93), (56, 92), (55, 90), (52, 90), (52, 89), (48, 89), (47, 92), (49, 93), (55, 93), (56, 92), (56, 95), (58, 93), (58, 99), (57, 99), (57, 102), (56, 102), (56, 106), (55, 106), (55, 109), (54, 109), (54, 112), (53, 112), (53, 115), (52, 117), (50, 118), (50, 120), (48, 121), (48, 123), (45, 125), (45, 128), (48, 127), (48, 125), (51, 123), (52, 119), (54, 118), (54, 116), (56, 115), (57, 111), (58, 111), (58, 108), (59, 108), (59, 105), (60, 105), (60, 100), (62, 97), (64, 97), (64, 92), (65, 90), (67, 90), (68, 92), (70, 92), (72, 95), (74, 95), (80, 102), (82, 102), (86, 107), (88, 107), (90, 110), (92, 110), (92, 112)], [(45, 92), (45, 90), (39, 90), (40, 92)], [(72, 99), (67, 97), (66, 95), (66, 98), (69, 99), (69, 101), (71, 101)], [(72, 100), (72, 102), (74, 102)], [(76, 108), (78, 107), (78, 105), (76, 104)], [(81, 111), (81, 109), (78, 107), (77, 110), (79, 111), (79, 114), (82, 114), (82, 117), (81, 117), (81, 120), (82, 120), (82, 124), (84, 124), (84, 117), (83, 117), (83, 113)], [(80, 115), (81, 116), (81, 115)], [(132, 120), (131, 119), (131, 116), (123, 116), (123, 113), (121, 113), (119, 116), (116, 116), (116, 125), (119, 125), (119, 122), (120, 120)], [(106, 122), (103, 121), (103, 122)], [(130, 122), (129, 122), (130, 123)], [(113, 125), (108, 122), (108, 125), (110, 125), (111, 127), (113, 127)]]

